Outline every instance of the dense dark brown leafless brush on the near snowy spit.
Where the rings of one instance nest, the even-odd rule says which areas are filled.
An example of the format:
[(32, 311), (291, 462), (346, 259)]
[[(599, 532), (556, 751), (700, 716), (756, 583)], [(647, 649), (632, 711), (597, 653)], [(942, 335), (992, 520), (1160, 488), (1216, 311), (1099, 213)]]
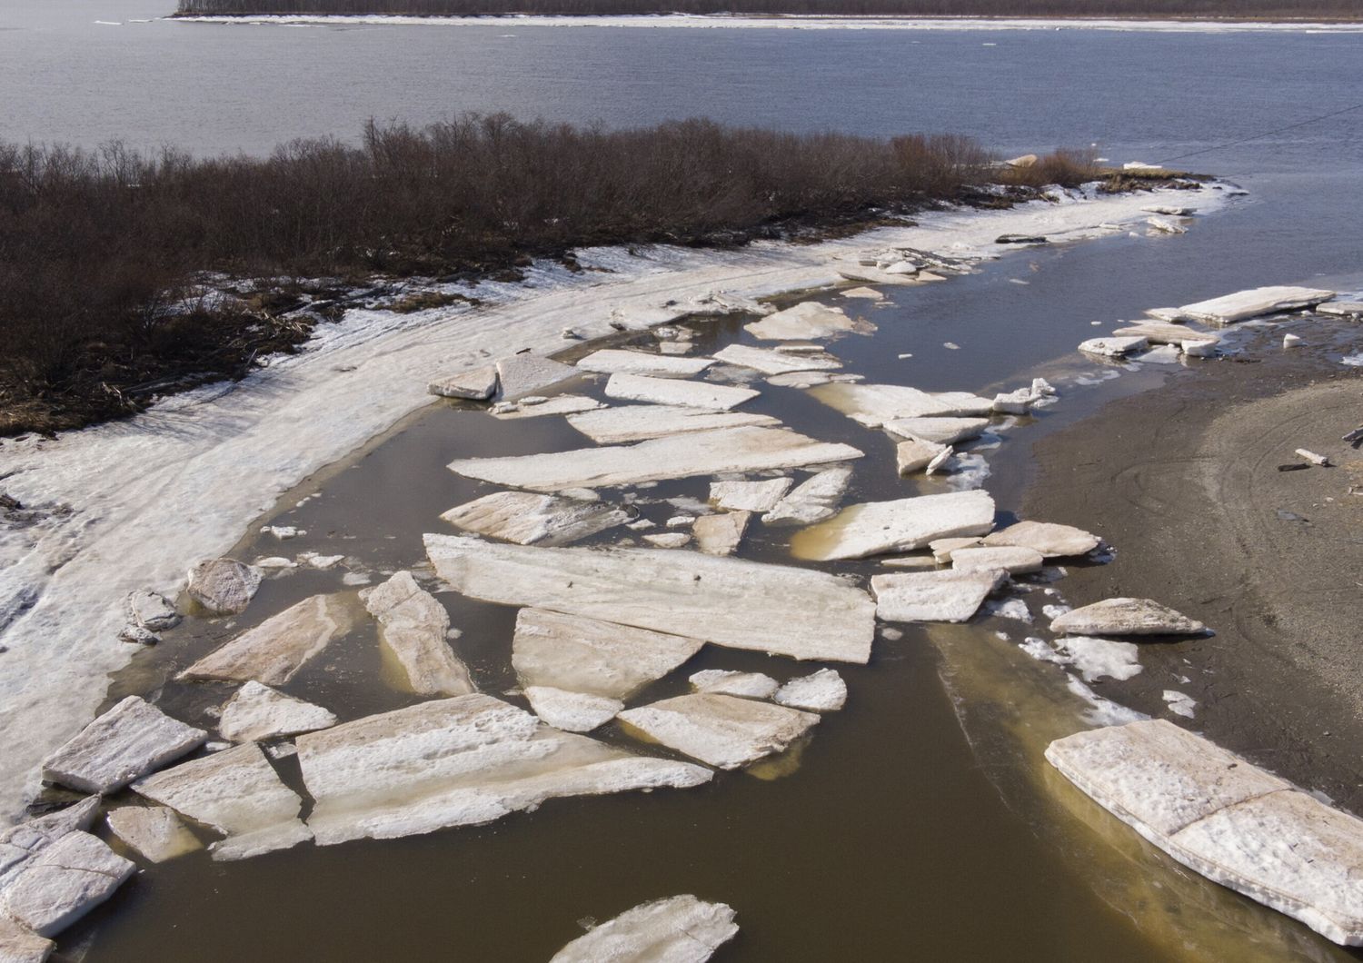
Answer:
[(0, 144), (0, 433), (41, 424), (25, 414), (34, 399), (50, 413), (94, 385), (113, 410), (135, 407), (128, 390), (168, 372), (230, 372), (305, 336), (281, 330), (277, 311), (185, 309), (203, 271), (478, 272), (590, 244), (739, 242), (960, 199), (1000, 177), (1089, 173), (1060, 155), (1000, 172), (960, 136), (703, 120), (632, 131), (507, 116), (371, 123), (357, 144), (297, 140), (267, 158)]

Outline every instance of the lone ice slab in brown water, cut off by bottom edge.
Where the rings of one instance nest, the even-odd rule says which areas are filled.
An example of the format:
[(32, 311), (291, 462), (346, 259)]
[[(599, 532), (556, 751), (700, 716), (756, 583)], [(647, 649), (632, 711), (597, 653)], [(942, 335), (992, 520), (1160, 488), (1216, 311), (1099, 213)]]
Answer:
[(705, 963), (737, 932), (733, 910), (724, 903), (671, 896), (608, 919), (549, 963)]

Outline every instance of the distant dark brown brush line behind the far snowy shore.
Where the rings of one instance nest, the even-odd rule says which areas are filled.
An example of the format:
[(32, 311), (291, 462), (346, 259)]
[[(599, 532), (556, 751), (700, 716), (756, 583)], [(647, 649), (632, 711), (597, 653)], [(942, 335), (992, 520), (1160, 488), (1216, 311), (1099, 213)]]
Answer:
[(1358, 0), (180, 0), (183, 15), (804, 14), (1358, 19)]

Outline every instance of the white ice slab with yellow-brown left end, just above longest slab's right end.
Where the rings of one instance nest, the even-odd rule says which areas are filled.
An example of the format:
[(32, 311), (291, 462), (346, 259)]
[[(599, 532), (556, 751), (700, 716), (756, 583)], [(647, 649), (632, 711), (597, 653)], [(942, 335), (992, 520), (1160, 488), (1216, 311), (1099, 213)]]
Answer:
[(994, 527), (994, 499), (984, 490), (921, 494), (849, 505), (827, 522), (797, 531), (800, 558), (834, 561), (921, 549), (938, 538), (983, 535)]

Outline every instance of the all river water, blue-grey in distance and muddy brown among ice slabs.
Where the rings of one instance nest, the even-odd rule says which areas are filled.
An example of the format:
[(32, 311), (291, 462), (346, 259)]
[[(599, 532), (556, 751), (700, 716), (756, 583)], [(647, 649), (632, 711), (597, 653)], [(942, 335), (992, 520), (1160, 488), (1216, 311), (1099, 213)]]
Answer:
[[(1115, 161), (1161, 161), (1363, 99), (1358, 35), (135, 22), (162, 12), (142, 0), (49, 0), (41, 11), (3, 0), (0, 138), (263, 153), (293, 136), (353, 136), (371, 116), (423, 123), (508, 110), (608, 125), (707, 114), (792, 129), (960, 131), (1003, 151), (1092, 143)], [(1032, 439), (1163, 376), (1148, 366), (1077, 381), (1096, 373), (1073, 356), (1096, 331), (1090, 321), (1107, 331), (1146, 308), (1259, 283), (1363, 285), (1360, 154), (1358, 114), (1199, 154), (1187, 163), (1251, 195), (1182, 237), (1018, 252), (949, 283), (890, 290), (891, 305), (857, 308), (879, 332), (831, 350), (871, 381), (927, 390), (983, 392), (1054, 375), (1060, 405), (985, 452), (995, 470), (987, 488), (1013, 511)], [(747, 341), (733, 320), (698, 324), (696, 338), (702, 353)], [(577, 390), (598, 394), (600, 384)], [(800, 392), (767, 388), (751, 409), (864, 448), (849, 500), (913, 490), (895, 478), (883, 436)], [(345, 552), (375, 571), (418, 564), (420, 534), (444, 530), (440, 512), (487, 490), (447, 471), (448, 460), (581, 444), (559, 418), (496, 422), (470, 406), (433, 406), (285, 499), (279, 522), (309, 533), (288, 549)], [(705, 481), (646, 494), (703, 499)], [(791, 564), (788, 537), (756, 527), (741, 554)], [(243, 556), (278, 552), (274, 542), (241, 546)], [(170, 633), (110, 697), (150, 691), (199, 718), (224, 693), (168, 682), (174, 669), (339, 587), (337, 572), (271, 580), (232, 629), (189, 620)], [(1029, 597), (1033, 609), (1043, 591)], [(511, 688), (512, 612), (440, 598), (480, 688)], [(871, 665), (842, 669), (848, 707), (816, 727), (781, 778), (726, 774), (698, 790), (555, 801), (489, 827), (241, 864), (191, 855), (140, 874), (63, 945), (91, 962), (529, 963), (581, 933), (583, 918), (695, 892), (739, 913), (743, 932), (717, 960), (1348, 959), (1178, 869), (1047, 775), (1039, 748), (1084, 725), (1084, 707), (1058, 670), (1020, 654), (1028, 632), (991, 618), (878, 639)], [(357, 631), (289, 691), (342, 718), (406, 704), (373, 685), (372, 643), (372, 628)], [(687, 666), (709, 667), (803, 672), (713, 647)], [(682, 688), (664, 680), (642, 699)]]

